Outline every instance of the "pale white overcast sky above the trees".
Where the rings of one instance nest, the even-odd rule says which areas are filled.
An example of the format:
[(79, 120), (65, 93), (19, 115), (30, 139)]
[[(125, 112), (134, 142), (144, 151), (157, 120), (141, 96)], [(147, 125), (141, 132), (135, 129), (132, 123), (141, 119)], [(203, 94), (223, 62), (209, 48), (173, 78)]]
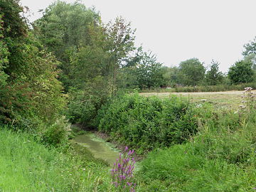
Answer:
[[(21, 0), (34, 16), (53, 0)], [(74, 2), (74, 0), (68, 0)], [(82, 0), (95, 6), (102, 21), (117, 16), (137, 28), (136, 44), (152, 50), (167, 66), (198, 58), (206, 65), (212, 59), (226, 72), (242, 59), (243, 45), (256, 36), (256, 0)]]

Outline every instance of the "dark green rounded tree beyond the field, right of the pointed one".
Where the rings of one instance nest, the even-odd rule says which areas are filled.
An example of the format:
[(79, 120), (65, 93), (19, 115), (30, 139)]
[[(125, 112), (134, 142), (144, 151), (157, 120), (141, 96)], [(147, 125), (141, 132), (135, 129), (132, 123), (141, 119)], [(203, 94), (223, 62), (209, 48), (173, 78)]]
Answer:
[(240, 60), (228, 70), (228, 78), (231, 83), (239, 84), (253, 81), (254, 70), (250, 60)]

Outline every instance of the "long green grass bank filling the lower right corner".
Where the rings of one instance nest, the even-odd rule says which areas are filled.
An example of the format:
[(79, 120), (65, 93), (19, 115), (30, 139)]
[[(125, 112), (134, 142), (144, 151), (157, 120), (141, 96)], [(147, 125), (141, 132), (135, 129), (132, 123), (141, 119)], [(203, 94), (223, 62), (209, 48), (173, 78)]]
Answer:
[(147, 191), (252, 190), (255, 114), (213, 113), (191, 142), (151, 152), (137, 177)]

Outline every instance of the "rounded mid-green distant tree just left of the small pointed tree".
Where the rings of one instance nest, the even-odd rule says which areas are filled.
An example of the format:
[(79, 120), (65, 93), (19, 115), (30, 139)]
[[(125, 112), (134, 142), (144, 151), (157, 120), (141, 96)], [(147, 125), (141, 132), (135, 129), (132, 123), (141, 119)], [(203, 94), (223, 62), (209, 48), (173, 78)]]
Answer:
[(204, 78), (206, 68), (198, 58), (191, 58), (181, 62), (178, 66), (178, 79), (183, 85), (198, 85)]

